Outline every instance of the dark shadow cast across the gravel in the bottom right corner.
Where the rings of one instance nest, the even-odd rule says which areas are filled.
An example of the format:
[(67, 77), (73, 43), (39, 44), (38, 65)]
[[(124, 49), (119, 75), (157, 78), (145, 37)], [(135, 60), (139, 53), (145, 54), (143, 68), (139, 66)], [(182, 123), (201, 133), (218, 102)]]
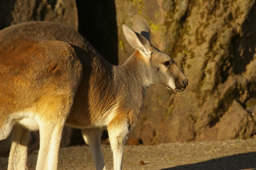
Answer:
[(161, 170), (181, 170), (181, 169), (197, 169), (197, 170), (256, 170), (256, 152), (241, 153), (222, 158), (211, 159), (195, 164), (175, 166)]

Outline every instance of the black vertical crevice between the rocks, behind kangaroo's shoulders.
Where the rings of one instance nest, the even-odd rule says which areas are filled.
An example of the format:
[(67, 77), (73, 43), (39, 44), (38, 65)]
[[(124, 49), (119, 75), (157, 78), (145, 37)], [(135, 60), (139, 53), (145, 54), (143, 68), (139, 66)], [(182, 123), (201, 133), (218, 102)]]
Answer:
[(78, 32), (110, 63), (118, 64), (117, 22), (114, 0), (76, 0)]

